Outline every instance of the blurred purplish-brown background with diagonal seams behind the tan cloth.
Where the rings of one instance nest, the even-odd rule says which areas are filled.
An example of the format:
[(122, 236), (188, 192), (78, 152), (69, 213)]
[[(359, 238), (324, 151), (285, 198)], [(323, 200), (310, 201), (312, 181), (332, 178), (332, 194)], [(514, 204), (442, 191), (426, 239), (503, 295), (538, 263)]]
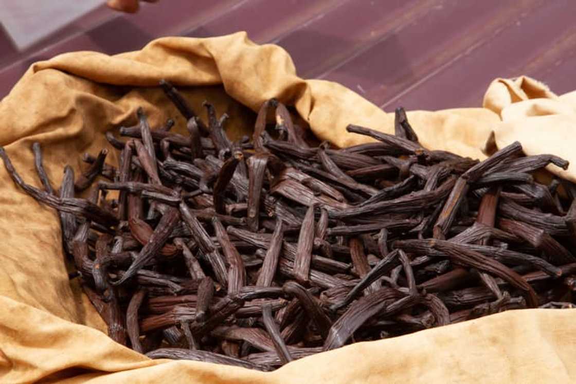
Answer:
[(576, 89), (574, 0), (0, 0), (0, 98), (28, 66), (70, 51), (117, 54), (162, 36), (246, 31), (281, 45), (303, 78), (392, 110), (481, 106), (495, 77)]

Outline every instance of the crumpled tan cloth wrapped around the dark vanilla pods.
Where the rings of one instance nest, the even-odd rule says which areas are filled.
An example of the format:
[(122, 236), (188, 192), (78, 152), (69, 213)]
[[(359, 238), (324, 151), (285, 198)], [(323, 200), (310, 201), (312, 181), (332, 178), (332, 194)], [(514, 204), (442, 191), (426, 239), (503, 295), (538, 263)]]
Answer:
[[(295, 105), (320, 139), (339, 146), (366, 140), (347, 134), (348, 123), (393, 130), (393, 115), (341, 85), (298, 78), (282, 48), (256, 45), (236, 33), (168, 37), (138, 52), (75, 52), (33, 64), (0, 102), (0, 145), (25, 180), (39, 185), (30, 146), (41, 142), (48, 175), (59, 185), (64, 165), (78, 172), (80, 155), (107, 146), (104, 131), (134, 124), (140, 105), (153, 126), (175, 117), (176, 129), (184, 129), (160, 90), (146, 88), (161, 78), (192, 86), (185, 95), (196, 111), (207, 99), (232, 117), (252, 116), (230, 123), (237, 136), (251, 129), (249, 109), (271, 97)], [(485, 108), (414, 111), (408, 117), (431, 149), (482, 158), (482, 150), (493, 150), (494, 143), (520, 140), (527, 154), (554, 153), (576, 163), (570, 151), (575, 105), (576, 94), (558, 97), (532, 79), (497, 79), (488, 88)], [(576, 181), (574, 166), (559, 174)], [(84, 294), (70, 285), (54, 210), (14, 187), (3, 167), (0, 178), (2, 383), (559, 383), (576, 378), (574, 310), (509, 311), (349, 345), (270, 373), (149, 360), (113, 343)]]

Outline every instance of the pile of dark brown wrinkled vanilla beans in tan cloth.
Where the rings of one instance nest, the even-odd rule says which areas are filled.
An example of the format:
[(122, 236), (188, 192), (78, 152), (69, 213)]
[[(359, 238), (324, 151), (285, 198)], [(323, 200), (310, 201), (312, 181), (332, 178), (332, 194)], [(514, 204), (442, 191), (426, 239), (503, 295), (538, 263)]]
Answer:
[[(13, 180), (59, 212), (63, 245), (113, 340), (150, 358), (258, 370), (356, 341), (379, 340), (508, 309), (571, 307), (576, 188), (535, 181), (554, 155), (513, 143), (479, 162), (420, 146), (403, 109), (395, 135), (310, 146), (289, 109), (264, 102), (253, 137), (228, 116), (108, 132), (120, 151), (86, 154), (58, 190), (32, 149), (43, 189)], [(88, 199), (74, 197), (90, 189)], [(111, 191), (114, 191), (113, 193)], [(112, 198), (113, 197), (113, 198)]]

